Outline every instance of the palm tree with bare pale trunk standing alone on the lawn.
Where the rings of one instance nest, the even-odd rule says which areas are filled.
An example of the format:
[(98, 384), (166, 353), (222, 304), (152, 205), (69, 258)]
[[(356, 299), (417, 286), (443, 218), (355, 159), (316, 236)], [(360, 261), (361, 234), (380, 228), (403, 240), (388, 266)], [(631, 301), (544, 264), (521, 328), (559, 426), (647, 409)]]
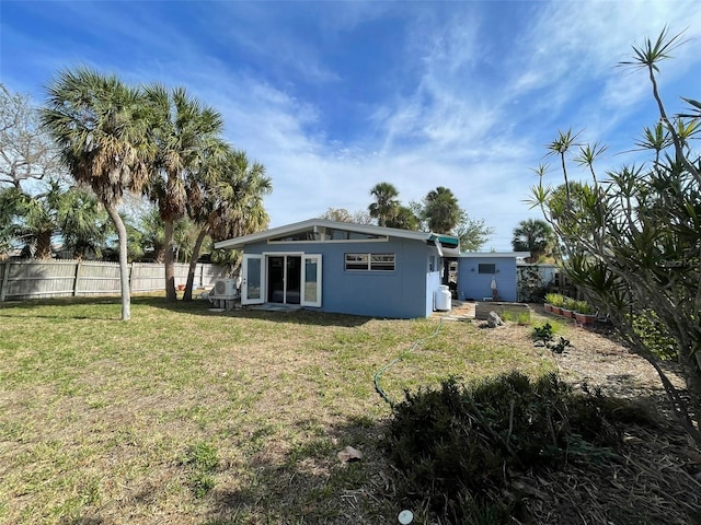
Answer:
[(130, 313), (127, 231), (117, 212), (125, 191), (139, 191), (153, 156), (143, 97), (114, 75), (88, 68), (61, 71), (47, 88), (42, 124), (70, 175), (92, 188), (119, 240), (122, 319)]

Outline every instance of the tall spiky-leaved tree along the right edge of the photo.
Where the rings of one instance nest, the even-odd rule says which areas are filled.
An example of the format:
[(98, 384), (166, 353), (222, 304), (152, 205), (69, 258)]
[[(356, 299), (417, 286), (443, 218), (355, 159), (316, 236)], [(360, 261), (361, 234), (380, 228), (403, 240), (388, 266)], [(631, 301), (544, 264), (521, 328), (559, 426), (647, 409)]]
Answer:
[[(609, 171), (602, 179), (594, 170), (601, 147), (562, 140), (572, 135), (561, 132), (555, 142), (564, 197), (543, 185), (541, 166), (532, 201), (563, 241), (567, 277), (655, 368), (675, 415), (701, 445), (701, 171), (691, 145), (701, 102), (685, 98), (688, 113), (669, 116), (657, 85), (659, 63), (681, 43), (681, 35), (670, 36), (665, 28), (655, 40), (634, 46), (633, 60), (622, 62), (643, 70), (652, 86), (659, 121), (636, 142), (650, 151), (651, 162)], [(586, 167), (591, 182), (570, 183), (568, 160)], [(636, 329), (636, 319), (646, 313), (675, 342), (688, 397), (667, 377), (651, 338)]]

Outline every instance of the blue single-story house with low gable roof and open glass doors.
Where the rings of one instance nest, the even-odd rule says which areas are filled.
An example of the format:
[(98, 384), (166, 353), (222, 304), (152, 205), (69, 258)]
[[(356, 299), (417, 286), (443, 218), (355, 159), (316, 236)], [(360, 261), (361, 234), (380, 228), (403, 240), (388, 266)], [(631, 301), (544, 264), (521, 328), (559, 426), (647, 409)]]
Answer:
[(221, 241), (243, 250), (241, 304), (283, 303), (372, 317), (428, 317), (452, 235), (321, 219)]

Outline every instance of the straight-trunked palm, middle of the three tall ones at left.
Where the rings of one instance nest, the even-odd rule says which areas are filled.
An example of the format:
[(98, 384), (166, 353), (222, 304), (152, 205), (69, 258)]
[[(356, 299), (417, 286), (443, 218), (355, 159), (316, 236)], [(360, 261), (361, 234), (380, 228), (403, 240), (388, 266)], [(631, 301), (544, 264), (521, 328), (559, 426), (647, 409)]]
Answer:
[(207, 155), (221, 149), (221, 115), (204, 106), (177, 88), (154, 84), (146, 89), (152, 110), (152, 137), (158, 145), (151, 199), (158, 203), (165, 225), (165, 295), (176, 300), (173, 223), (185, 215), (186, 207), (200, 201), (197, 173)]

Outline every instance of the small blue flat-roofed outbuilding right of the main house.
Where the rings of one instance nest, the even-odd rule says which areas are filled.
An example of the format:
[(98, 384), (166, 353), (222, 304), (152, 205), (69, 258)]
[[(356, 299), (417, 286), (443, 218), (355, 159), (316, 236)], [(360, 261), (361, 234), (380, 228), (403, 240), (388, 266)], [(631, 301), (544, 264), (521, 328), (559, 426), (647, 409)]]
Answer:
[(530, 252), (464, 252), (458, 258), (458, 299), (518, 301), (517, 261)]

